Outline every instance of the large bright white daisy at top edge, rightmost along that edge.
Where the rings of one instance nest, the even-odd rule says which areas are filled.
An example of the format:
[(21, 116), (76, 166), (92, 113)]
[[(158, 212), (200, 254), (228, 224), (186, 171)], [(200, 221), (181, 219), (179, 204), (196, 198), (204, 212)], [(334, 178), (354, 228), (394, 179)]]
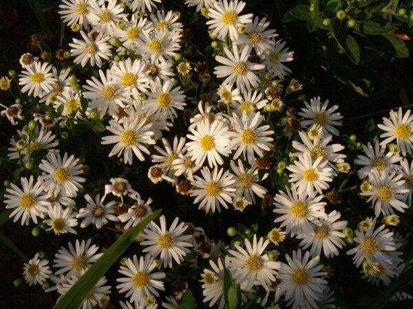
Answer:
[(209, 25), (210, 30), (213, 30), (212, 35), (218, 36), (222, 41), (225, 40), (226, 34), (229, 34), (231, 41), (237, 40), (237, 27), (253, 21), (253, 14), (240, 16), (245, 6), (243, 1), (220, 0), (212, 4), (213, 7), (211, 5), (208, 10), (210, 20), (207, 21), (207, 25)]

